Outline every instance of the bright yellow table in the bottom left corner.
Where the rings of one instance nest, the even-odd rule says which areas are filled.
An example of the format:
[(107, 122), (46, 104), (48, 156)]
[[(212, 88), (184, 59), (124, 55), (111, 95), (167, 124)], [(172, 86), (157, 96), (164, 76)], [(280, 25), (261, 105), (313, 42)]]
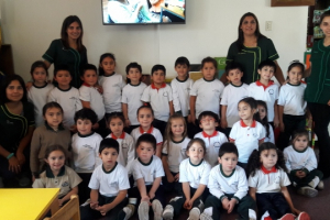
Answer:
[(41, 219), (48, 209), (53, 215), (59, 209), (58, 193), (59, 188), (0, 189), (0, 219)]

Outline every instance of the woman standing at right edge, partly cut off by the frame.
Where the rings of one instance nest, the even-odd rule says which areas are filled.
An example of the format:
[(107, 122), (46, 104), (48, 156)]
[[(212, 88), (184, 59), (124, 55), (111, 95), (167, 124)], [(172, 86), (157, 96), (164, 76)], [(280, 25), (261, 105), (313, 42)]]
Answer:
[(314, 43), (310, 56), (312, 67), (306, 69), (307, 88), (305, 99), (315, 122), (320, 160), (318, 169), (323, 177), (330, 176), (330, 11), (321, 16), (320, 28), (326, 37)]

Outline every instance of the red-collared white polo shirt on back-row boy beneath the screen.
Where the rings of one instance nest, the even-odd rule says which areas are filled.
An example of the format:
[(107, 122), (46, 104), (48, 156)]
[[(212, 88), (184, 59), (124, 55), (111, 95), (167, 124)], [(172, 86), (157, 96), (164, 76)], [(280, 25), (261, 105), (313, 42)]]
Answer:
[(169, 101), (173, 101), (172, 88), (165, 82), (158, 89), (154, 84), (146, 87), (141, 100), (150, 102), (154, 110), (155, 119), (167, 122), (169, 118)]

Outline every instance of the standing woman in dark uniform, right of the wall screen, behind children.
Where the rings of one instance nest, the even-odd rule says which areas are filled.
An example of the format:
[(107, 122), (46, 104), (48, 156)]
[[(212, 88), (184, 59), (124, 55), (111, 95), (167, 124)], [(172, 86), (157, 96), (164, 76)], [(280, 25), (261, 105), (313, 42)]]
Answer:
[[(256, 16), (251, 12), (243, 14), (239, 25), (239, 38), (230, 45), (227, 63), (240, 63), (244, 68), (242, 81), (251, 84), (258, 79), (257, 65), (265, 59), (272, 59), (276, 64), (275, 77), (279, 84), (283, 84), (285, 79), (276, 62), (278, 57), (272, 40), (260, 33)], [(226, 80), (223, 75), (221, 81), (226, 82)]]

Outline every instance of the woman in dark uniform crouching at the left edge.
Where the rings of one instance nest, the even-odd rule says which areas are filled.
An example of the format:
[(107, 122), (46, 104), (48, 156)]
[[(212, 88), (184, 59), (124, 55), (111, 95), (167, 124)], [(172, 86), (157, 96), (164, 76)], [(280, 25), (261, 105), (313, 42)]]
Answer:
[(34, 110), (24, 81), (19, 75), (7, 76), (0, 88), (0, 176), (4, 184), (29, 170), (26, 146), (33, 130)]

